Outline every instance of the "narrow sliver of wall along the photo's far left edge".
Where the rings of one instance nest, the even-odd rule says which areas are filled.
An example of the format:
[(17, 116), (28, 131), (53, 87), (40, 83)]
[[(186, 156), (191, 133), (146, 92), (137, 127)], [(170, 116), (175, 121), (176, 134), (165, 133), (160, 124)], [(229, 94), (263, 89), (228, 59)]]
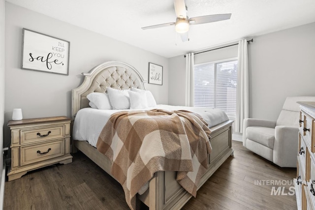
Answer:
[[(4, 0), (0, 0), (0, 127), (4, 127)], [(0, 129), (0, 150), (3, 148), (3, 129)], [(3, 155), (0, 154), (0, 180), (2, 178)], [(3, 185), (2, 185), (3, 184)], [(4, 183), (0, 182), (0, 188)], [(0, 209), (2, 206), (0, 197)]]

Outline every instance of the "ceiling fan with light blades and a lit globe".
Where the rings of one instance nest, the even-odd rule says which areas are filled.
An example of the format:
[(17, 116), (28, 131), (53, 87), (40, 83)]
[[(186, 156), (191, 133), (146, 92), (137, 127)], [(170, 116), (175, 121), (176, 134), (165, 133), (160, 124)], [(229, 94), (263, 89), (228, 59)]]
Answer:
[(142, 27), (141, 29), (156, 29), (166, 26), (175, 25), (175, 31), (181, 34), (182, 41), (188, 41), (188, 30), (189, 25), (197, 25), (204, 23), (212, 23), (217, 21), (228, 20), (231, 18), (231, 13), (227, 14), (216, 14), (216, 15), (205, 15), (189, 18), (187, 16), (187, 6), (185, 0), (174, 0), (174, 7), (176, 13), (176, 21), (172, 23), (163, 23), (153, 26)]

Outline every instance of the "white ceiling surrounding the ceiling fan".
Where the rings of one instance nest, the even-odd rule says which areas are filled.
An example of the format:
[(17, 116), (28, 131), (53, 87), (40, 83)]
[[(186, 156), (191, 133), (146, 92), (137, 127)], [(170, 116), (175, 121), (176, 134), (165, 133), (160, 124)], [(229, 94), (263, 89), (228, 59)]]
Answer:
[(173, 0), (6, 1), (166, 58), (315, 22), (315, 0), (185, 0), (189, 18), (222, 13), (232, 16), (190, 26), (190, 40), (182, 42), (174, 26), (141, 29), (175, 22)]

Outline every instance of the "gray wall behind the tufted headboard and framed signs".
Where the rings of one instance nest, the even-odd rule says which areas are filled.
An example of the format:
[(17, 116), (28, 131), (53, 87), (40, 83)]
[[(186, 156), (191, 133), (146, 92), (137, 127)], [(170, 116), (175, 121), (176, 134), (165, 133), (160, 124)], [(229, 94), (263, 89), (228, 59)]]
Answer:
[[(70, 41), (68, 76), (20, 68), (22, 28)], [(148, 80), (149, 62), (162, 65), (163, 85), (145, 84), (145, 87), (158, 103), (168, 103), (168, 59), (5, 2), (4, 121), (11, 120), (14, 108), (22, 108), (24, 119), (70, 117), (71, 90), (82, 83), (81, 73), (109, 60), (129, 63), (145, 80)], [(9, 129), (5, 127), (4, 132), (4, 142), (9, 146)]]

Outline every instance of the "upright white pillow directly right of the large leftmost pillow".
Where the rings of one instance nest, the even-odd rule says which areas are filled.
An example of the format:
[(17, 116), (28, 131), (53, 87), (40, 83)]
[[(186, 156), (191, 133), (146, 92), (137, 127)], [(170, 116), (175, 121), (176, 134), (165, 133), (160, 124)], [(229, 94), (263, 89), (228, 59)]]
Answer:
[(109, 101), (113, 109), (129, 109), (130, 99), (128, 90), (117, 90), (107, 87)]

